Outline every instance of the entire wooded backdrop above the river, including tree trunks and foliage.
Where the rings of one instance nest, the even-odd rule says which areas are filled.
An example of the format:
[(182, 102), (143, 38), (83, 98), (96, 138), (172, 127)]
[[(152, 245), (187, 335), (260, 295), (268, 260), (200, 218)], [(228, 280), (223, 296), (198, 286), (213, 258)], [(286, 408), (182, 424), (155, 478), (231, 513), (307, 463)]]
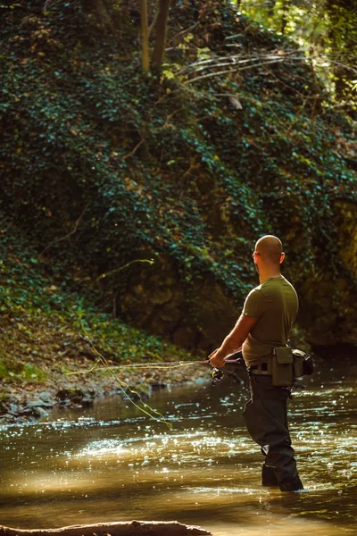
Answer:
[(353, 0), (0, 7), (0, 378), (93, 356), (83, 325), (118, 362), (206, 355), (270, 233), (295, 343), (355, 353)]

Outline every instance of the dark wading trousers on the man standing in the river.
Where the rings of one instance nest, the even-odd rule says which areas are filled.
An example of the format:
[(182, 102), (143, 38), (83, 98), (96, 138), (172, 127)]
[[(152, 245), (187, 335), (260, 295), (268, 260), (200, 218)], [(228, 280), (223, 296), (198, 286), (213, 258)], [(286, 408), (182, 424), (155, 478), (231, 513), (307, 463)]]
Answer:
[(251, 400), (243, 418), (252, 439), (262, 448), (265, 465), (274, 467), (281, 482), (298, 476), (294, 449), (287, 427), (286, 399), (289, 391), (271, 384), (271, 376), (250, 375)]

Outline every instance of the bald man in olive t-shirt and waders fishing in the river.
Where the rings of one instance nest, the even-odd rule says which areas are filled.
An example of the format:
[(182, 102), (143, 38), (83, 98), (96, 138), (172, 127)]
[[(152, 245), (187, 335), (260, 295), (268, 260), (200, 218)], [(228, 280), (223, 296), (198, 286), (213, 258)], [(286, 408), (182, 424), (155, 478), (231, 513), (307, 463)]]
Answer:
[(251, 400), (244, 419), (253, 440), (262, 448), (262, 485), (282, 491), (303, 490), (287, 427), (286, 400), (290, 391), (272, 384), (273, 348), (286, 347), (298, 310), (294, 287), (280, 273), (285, 254), (277, 237), (267, 235), (255, 244), (253, 262), (260, 285), (245, 299), (243, 313), (220, 348), (209, 357), (212, 366), (242, 350), (250, 378)]

